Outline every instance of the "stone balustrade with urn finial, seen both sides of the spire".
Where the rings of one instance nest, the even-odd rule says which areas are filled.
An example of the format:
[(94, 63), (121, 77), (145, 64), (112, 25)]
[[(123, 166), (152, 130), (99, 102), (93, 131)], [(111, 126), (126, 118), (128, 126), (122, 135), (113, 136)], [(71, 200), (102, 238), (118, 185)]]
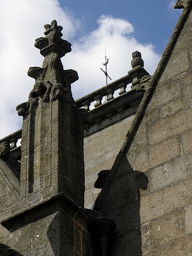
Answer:
[[(90, 125), (95, 123), (98, 126), (103, 119), (111, 119), (115, 112), (122, 114), (128, 106), (137, 108), (140, 104), (143, 93), (136, 92), (136, 90), (133, 89), (136, 89), (142, 77), (149, 76), (149, 73), (143, 68), (144, 62), (140, 52), (133, 52), (132, 58), (132, 69), (128, 71), (126, 76), (76, 100), (78, 108), (85, 108), (89, 112), (89, 123), (84, 126), (85, 136), (90, 133), (90, 131), (87, 133), (88, 129), (90, 129)], [(132, 90), (126, 91), (128, 84), (131, 84)], [(117, 96), (115, 97), (114, 94)], [(103, 100), (104, 97), (105, 100)], [(115, 99), (115, 101), (113, 99)], [(95, 102), (94, 107), (92, 111), (90, 111), (90, 105), (93, 105), (93, 102)], [(11, 152), (17, 160), (20, 160), (20, 145), (17, 145), (17, 141), (21, 139), (21, 134), (22, 129), (0, 139), (0, 143), (5, 141), (10, 143)]]

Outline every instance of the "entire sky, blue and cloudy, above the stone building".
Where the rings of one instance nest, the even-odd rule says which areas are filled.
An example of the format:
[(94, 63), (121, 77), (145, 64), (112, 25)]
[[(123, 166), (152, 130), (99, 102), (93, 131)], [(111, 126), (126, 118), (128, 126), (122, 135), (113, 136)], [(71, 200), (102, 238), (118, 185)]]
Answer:
[(72, 84), (74, 99), (105, 85), (100, 70), (105, 58), (112, 80), (131, 70), (131, 53), (142, 53), (145, 69), (152, 75), (169, 42), (182, 10), (176, 0), (1, 0), (0, 9), (0, 137), (21, 128), (15, 107), (28, 99), (34, 79), (32, 66), (43, 57), (34, 47), (44, 36), (44, 25), (56, 19), (64, 27), (63, 38), (72, 52), (62, 62), (74, 69), (79, 80)]

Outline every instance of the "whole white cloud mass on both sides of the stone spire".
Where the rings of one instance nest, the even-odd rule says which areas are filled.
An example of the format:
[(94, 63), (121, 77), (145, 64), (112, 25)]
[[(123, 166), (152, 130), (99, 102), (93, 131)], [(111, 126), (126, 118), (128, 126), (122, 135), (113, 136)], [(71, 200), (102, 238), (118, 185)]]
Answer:
[(44, 24), (53, 19), (64, 27), (63, 38), (72, 43), (72, 52), (62, 62), (64, 69), (74, 69), (79, 74), (79, 81), (72, 84), (75, 99), (105, 85), (100, 70), (105, 47), (110, 58), (108, 74), (113, 81), (131, 69), (132, 51), (142, 53), (145, 69), (151, 74), (160, 59), (152, 45), (136, 41), (130, 22), (111, 16), (101, 16), (96, 30), (73, 41), (81, 34), (81, 23), (67, 9), (61, 9), (57, 0), (3, 0), (0, 16), (0, 138), (21, 128), (15, 107), (28, 99), (34, 84), (27, 70), (41, 67), (43, 61), (33, 44), (44, 36)]

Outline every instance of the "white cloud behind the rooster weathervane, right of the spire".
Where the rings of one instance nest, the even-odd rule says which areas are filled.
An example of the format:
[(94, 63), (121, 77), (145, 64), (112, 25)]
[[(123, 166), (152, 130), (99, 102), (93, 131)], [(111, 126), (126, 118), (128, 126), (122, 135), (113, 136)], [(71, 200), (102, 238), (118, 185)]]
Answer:
[(72, 84), (75, 99), (105, 85), (105, 75), (100, 70), (105, 47), (110, 58), (108, 75), (113, 81), (131, 70), (131, 53), (135, 50), (142, 53), (145, 69), (151, 74), (160, 60), (151, 44), (140, 44), (132, 36), (134, 27), (128, 20), (102, 15), (98, 25), (96, 30), (74, 42), (73, 51), (62, 59), (65, 68), (73, 68), (79, 74), (79, 80)]

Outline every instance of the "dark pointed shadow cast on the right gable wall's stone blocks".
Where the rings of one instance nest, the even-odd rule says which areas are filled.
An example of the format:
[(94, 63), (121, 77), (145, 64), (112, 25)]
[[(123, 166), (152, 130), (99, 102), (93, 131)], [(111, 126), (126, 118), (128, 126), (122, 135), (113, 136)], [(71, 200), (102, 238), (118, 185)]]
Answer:
[(126, 157), (111, 172), (96, 203), (102, 215), (116, 223), (109, 255), (142, 256), (140, 196), (148, 188), (148, 178), (134, 171)]

